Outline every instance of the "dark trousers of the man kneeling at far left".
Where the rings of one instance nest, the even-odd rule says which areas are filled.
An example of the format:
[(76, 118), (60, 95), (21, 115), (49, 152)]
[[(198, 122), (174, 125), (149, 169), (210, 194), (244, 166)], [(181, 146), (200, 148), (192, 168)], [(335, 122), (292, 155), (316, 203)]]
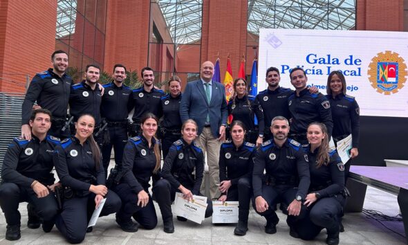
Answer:
[(53, 192), (50, 192), (46, 197), (38, 198), (32, 188), (23, 188), (15, 183), (2, 183), (0, 186), (0, 206), (9, 226), (21, 224), (19, 203), (23, 201), (33, 204), (37, 215), (45, 221), (53, 220), (57, 215), (58, 205)]

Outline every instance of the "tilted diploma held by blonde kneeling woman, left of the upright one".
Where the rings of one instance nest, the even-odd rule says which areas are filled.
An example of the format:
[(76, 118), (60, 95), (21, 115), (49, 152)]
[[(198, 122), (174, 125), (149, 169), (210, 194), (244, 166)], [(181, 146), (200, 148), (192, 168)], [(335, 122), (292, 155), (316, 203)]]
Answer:
[(176, 192), (174, 199), (173, 214), (185, 217), (198, 224), (205, 219), (205, 210), (207, 209), (207, 198), (193, 195), (192, 201), (183, 198), (183, 194)]

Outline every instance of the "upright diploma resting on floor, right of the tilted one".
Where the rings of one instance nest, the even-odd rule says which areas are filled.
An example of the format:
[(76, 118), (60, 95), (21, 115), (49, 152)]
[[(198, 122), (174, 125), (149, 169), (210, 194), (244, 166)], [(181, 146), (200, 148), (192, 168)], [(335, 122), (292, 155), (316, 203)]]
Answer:
[(238, 201), (213, 201), (212, 223), (238, 223)]

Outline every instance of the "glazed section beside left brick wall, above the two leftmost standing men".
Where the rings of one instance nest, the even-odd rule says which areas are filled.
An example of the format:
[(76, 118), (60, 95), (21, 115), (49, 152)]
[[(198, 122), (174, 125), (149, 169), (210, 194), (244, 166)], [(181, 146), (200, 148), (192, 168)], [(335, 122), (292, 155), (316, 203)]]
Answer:
[(86, 65), (103, 67), (106, 1), (58, 0), (55, 49), (68, 53), (69, 73), (76, 81)]

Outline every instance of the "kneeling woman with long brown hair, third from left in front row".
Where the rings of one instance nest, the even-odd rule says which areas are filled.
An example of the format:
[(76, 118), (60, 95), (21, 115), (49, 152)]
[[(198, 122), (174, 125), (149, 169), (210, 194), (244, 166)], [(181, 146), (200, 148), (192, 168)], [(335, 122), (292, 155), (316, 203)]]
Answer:
[(122, 199), (122, 207), (116, 214), (116, 222), (122, 230), (133, 233), (138, 230), (131, 217), (145, 229), (157, 225), (156, 209), (149, 194), (149, 181), (160, 179), (160, 147), (154, 137), (158, 118), (154, 114), (144, 114), (140, 120), (140, 136), (130, 138), (124, 147), (121, 166), (122, 178), (113, 190)]

